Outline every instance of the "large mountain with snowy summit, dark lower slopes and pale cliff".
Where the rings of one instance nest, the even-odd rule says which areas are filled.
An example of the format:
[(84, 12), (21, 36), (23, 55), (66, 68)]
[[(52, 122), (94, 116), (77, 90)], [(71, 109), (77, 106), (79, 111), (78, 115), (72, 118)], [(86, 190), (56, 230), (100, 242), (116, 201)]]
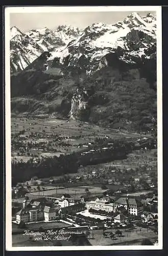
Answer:
[(93, 24), (80, 33), (11, 75), (12, 113), (156, 130), (156, 17), (132, 13), (123, 22)]

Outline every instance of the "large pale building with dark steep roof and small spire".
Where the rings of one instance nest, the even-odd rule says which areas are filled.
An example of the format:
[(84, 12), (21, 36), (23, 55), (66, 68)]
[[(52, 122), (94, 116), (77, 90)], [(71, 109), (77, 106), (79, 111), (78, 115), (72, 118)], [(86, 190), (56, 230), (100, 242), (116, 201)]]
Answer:
[(131, 215), (141, 215), (143, 206), (137, 198), (121, 197), (114, 202), (114, 209), (124, 206)]

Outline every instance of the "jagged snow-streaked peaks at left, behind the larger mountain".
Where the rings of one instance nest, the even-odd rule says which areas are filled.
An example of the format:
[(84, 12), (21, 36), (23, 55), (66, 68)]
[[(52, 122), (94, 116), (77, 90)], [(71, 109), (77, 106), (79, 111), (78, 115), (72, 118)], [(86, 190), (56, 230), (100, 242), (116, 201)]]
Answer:
[(80, 30), (71, 26), (58, 26), (57, 29), (33, 29), (22, 33), (18, 28), (12, 27), (10, 31), (11, 42), (11, 72), (25, 69), (42, 52), (57, 52), (62, 46), (74, 40)]

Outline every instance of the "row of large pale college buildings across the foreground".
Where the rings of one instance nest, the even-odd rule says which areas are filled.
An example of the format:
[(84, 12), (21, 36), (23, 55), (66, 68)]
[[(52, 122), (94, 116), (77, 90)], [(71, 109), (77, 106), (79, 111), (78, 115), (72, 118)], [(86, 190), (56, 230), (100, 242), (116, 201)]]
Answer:
[(157, 197), (154, 196), (152, 199), (143, 200), (137, 197), (126, 197), (118, 198), (113, 201), (110, 197), (97, 198), (94, 201), (86, 201), (83, 197), (79, 200), (72, 198), (61, 198), (50, 197), (50, 200), (46, 198), (38, 198), (37, 200), (25, 199), (22, 202), (22, 209), (16, 214), (16, 223), (23, 222), (38, 222), (38, 221), (53, 221), (58, 220), (61, 214), (76, 214), (85, 209), (94, 209), (106, 211), (108, 214), (113, 212), (114, 223), (126, 223), (128, 217), (139, 216), (145, 221), (150, 219), (157, 219), (157, 212), (148, 212), (144, 208), (146, 205), (153, 203), (157, 204)]

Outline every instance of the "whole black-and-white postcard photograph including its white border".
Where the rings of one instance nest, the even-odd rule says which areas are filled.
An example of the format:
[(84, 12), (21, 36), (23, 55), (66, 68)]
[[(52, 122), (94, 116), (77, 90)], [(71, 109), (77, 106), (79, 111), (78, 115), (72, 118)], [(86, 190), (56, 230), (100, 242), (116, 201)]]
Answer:
[(162, 249), (161, 7), (5, 10), (7, 250)]

